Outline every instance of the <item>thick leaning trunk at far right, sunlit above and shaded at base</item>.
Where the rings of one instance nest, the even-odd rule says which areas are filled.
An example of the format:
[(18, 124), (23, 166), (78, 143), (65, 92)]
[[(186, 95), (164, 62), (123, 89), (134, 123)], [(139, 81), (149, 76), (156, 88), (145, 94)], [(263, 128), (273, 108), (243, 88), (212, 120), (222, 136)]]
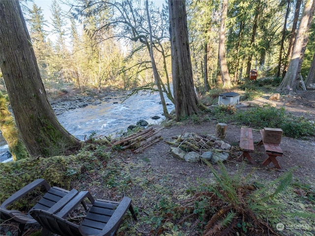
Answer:
[(305, 2), (301, 23), (296, 35), (292, 58), (290, 60), (287, 72), (277, 90), (293, 90), (298, 88), (299, 74), (301, 64), (304, 58), (305, 47), (309, 37), (309, 29), (311, 27), (315, 10), (315, 0), (307, 0)]

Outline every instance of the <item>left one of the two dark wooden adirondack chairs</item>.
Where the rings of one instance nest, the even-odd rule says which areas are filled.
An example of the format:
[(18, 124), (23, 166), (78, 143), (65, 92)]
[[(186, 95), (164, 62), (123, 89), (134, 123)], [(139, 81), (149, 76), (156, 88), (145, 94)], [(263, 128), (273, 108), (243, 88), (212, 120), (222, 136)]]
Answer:
[[(73, 196), (78, 193), (78, 191), (75, 189), (68, 191), (59, 187), (51, 187), (45, 179), (41, 178), (34, 180), (32, 183), (24, 186), (23, 188), (15, 192), (1, 204), (0, 218), (2, 220), (9, 220), (19, 223), (18, 236), (22, 236), (26, 224), (38, 224), (38, 222), (33, 219), (29, 213), (23, 213), (15, 209), (8, 210), (7, 208), (9, 207), (9, 205), (21, 199), (26, 194), (30, 193), (32, 190), (36, 189), (39, 186), (44, 186), (46, 193), (35, 204), (35, 206), (32, 207), (32, 209), (50, 209), (53, 213), (58, 212), (67, 203), (68, 200), (72, 199)], [(63, 201), (61, 201), (59, 205), (56, 205), (56, 203), (61, 199), (63, 199)]]

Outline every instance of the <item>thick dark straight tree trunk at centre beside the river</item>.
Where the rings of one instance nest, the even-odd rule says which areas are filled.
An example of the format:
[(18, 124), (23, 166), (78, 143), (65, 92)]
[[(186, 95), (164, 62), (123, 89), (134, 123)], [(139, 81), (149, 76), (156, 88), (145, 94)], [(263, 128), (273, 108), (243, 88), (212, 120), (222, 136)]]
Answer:
[(169, 0), (172, 75), (176, 121), (199, 112), (192, 79), (185, 0)]

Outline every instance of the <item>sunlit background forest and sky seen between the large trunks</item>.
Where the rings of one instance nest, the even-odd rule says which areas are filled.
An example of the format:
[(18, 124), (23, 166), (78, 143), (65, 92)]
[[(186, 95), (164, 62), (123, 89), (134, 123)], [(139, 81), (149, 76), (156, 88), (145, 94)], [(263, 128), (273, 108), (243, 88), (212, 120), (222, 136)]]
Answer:
[[(304, 6), (307, 2), (314, 6), (313, 0), (226, 2), (223, 48), (232, 85), (248, 81), (252, 69), (258, 71), (258, 78), (283, 79)], [(150, 38), (144, 3), (52, 0), (51, 19), (36, 1), (28, 3), (29, 9), (22, 7), (45, 88), (72, 83), (80, 89), (108, 85), (129, 89), (154, 83), (152, 58), (144, 43)], [(222, 7), (219, 0), (186, 1), (193, 80), (199, 92), (222, 86), (218, 56)], [(155, 63), (161, 80), (167, 83), (172, 75), (168, 5), (149, 1), (148, 8)], [(301, 59), (304, 79), (315, 52), (313, 15), (310, 22)]]

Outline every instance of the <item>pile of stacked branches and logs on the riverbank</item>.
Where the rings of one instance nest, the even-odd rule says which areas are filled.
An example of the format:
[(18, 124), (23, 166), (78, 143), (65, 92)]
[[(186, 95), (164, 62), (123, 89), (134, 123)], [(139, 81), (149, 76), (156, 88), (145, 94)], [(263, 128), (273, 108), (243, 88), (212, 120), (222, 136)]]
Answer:
[(139, 153), (144, 149), (158, 143), (161, 139), (161, 135), (157, 133), (153, 127), (140, 131), (136, 134), (130, 135), (124, 139), (121, 139), (114, 143), (114, 145), (120, 145), (123, 150), (130, 148), (135, 153)]

